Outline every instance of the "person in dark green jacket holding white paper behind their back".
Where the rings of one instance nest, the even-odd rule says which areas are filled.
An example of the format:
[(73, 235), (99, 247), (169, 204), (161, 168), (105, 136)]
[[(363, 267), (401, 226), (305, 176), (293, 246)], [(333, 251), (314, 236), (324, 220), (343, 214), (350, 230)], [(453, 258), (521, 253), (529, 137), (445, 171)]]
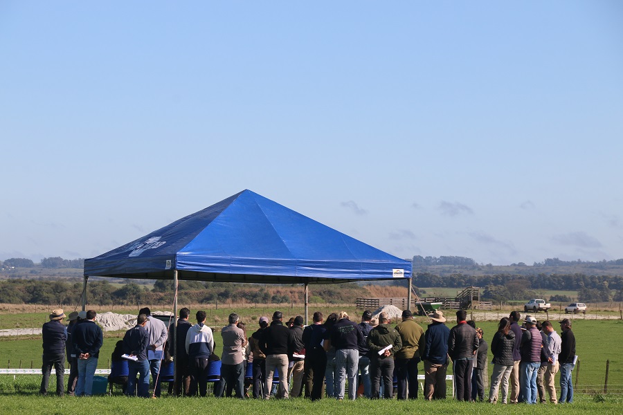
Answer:
[(383, 377), (384, 394), (391, 399), (394, 392), (394, 352), (402, 347), (400, 334), (388, 324), (386, 313), (379, 314), (379, 325), (368, 334), (370, 350), (370, 377), (372, 378), (372, 399), (380, 397), (381, 376)]

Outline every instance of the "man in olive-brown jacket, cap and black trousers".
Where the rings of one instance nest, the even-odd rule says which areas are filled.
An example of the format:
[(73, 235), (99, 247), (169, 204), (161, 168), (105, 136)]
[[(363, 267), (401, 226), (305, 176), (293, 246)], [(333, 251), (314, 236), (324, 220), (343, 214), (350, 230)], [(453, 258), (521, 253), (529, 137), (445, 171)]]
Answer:
[[(402, 322), (396, 326), (402, 347), (394, 356), (398, 378), (398, 399), (417, 399), (417, 364), (419, 353), (424, 350), (424, 330), (413, 320), (410, 310), (402, 312)], [(408, 385), (408, 391), (407, 391)]]

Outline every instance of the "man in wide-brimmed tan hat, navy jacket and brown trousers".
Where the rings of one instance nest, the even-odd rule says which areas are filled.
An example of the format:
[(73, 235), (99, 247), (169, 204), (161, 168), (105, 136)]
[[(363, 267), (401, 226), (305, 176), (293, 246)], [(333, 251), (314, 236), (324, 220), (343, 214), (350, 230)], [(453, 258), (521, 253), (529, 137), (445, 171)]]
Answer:
[(446, 317), (437, 310), (429, 315), (433, 321), (424, 333), (424, 398), (446, 398), (446, 371), (448, 369), (448, 337), (450, 329)]

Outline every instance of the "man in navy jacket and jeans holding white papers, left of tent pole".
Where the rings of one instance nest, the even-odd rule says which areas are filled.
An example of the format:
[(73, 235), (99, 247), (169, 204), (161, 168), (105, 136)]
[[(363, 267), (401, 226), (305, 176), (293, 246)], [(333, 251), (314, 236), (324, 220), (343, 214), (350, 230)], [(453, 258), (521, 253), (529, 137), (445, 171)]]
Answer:
[[(128, 376), (125, 388), (127, 396), (134, 396), (134, 388), (138, 387), (138, 396), (150, 397), (150, 361), (147, 360), (150, 334), (145, 330), (145, 324), (147, 324), (147, 315), (138, 315), (136, 326), (126, 331), (123, 336), (125, 354), (121, 357), (127, 359)], [(136, 374), (138, 374), (138, 384)]]

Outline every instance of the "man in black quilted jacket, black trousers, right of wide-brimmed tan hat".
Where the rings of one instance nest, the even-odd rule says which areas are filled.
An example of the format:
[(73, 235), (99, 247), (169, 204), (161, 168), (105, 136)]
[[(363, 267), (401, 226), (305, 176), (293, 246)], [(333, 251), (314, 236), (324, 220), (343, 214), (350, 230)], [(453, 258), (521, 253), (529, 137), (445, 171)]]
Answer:
[(471, 372), (478, 352), (476, 329), (467, 324), (467, 311), (456, 312), (456, 326), (450, 329), (448, 355), (452, 359), (457, 400), (471, 400)]

